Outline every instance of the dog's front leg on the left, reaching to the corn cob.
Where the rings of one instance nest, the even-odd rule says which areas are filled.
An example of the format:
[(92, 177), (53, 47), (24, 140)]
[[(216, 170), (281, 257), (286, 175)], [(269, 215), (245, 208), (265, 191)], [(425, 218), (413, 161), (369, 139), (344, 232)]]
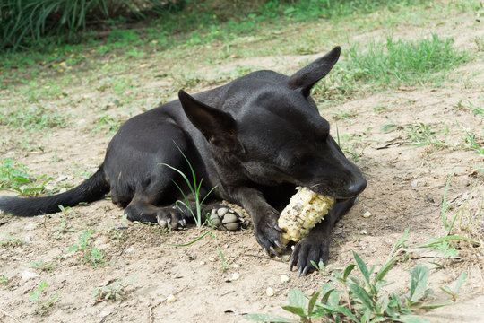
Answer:
[(255, 239), (267, 252), (278, 255), (276, 247), (285, 249), (281, 245), (281, 233), (277, 221), (279, 212), (267, 203), (263, 194), (255, 188), (238, 187), (229, 191), (230, 196), (250, 214), (255, 228)]

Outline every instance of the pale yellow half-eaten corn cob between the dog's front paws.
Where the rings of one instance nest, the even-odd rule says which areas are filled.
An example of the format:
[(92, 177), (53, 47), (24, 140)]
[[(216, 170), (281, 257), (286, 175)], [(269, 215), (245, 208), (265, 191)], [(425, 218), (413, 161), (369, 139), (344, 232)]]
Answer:
[(279, 217), (279, 227), (286, 231), (281, 234), (281, 243), (287, 245), (290, 240), (301, 240), (316, 223), (324, 219), (334, 201), (333, 197), (316, 194), (309, 188), (298, 188)]

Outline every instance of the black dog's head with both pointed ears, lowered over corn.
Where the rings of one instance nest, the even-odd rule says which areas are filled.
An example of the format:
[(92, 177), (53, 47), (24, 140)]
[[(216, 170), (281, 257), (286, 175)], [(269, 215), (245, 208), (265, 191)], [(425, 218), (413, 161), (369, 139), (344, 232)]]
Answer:
[(310, 97), (340, 50), (334, 48), (290, 77), (271, 71), (247, 74), (229, 84), (216, 108), (183, 91), (179, 99), (212, 153), (236, 160), (247, 179), (262, 185), (291, 183), (337, 198), (357, 196), (367, 181), (341, 152)]

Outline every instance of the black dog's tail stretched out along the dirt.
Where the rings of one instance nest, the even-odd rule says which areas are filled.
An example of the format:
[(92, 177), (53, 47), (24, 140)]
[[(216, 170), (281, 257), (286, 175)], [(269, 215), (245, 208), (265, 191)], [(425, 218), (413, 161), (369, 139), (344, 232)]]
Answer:
[(102, 165), (91, 178), (65, 193), (45, 197), (0, 197), (0, 210), (5, 214), (34, 216), (59, 212), (59, 205), (75, 206), (99, 200), (109, 192), (109, 183)]

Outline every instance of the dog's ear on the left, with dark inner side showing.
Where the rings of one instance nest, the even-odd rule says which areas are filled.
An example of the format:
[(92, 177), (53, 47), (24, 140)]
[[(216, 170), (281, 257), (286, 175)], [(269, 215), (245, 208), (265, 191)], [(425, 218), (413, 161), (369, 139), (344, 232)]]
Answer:
[(178, 98), (186, 117), (210, 143), (226, 152), (234, 152), (241, 147), (236, 132), (236, 121), (229, 113), (214, 109), (183, 90), (178, 92)]

